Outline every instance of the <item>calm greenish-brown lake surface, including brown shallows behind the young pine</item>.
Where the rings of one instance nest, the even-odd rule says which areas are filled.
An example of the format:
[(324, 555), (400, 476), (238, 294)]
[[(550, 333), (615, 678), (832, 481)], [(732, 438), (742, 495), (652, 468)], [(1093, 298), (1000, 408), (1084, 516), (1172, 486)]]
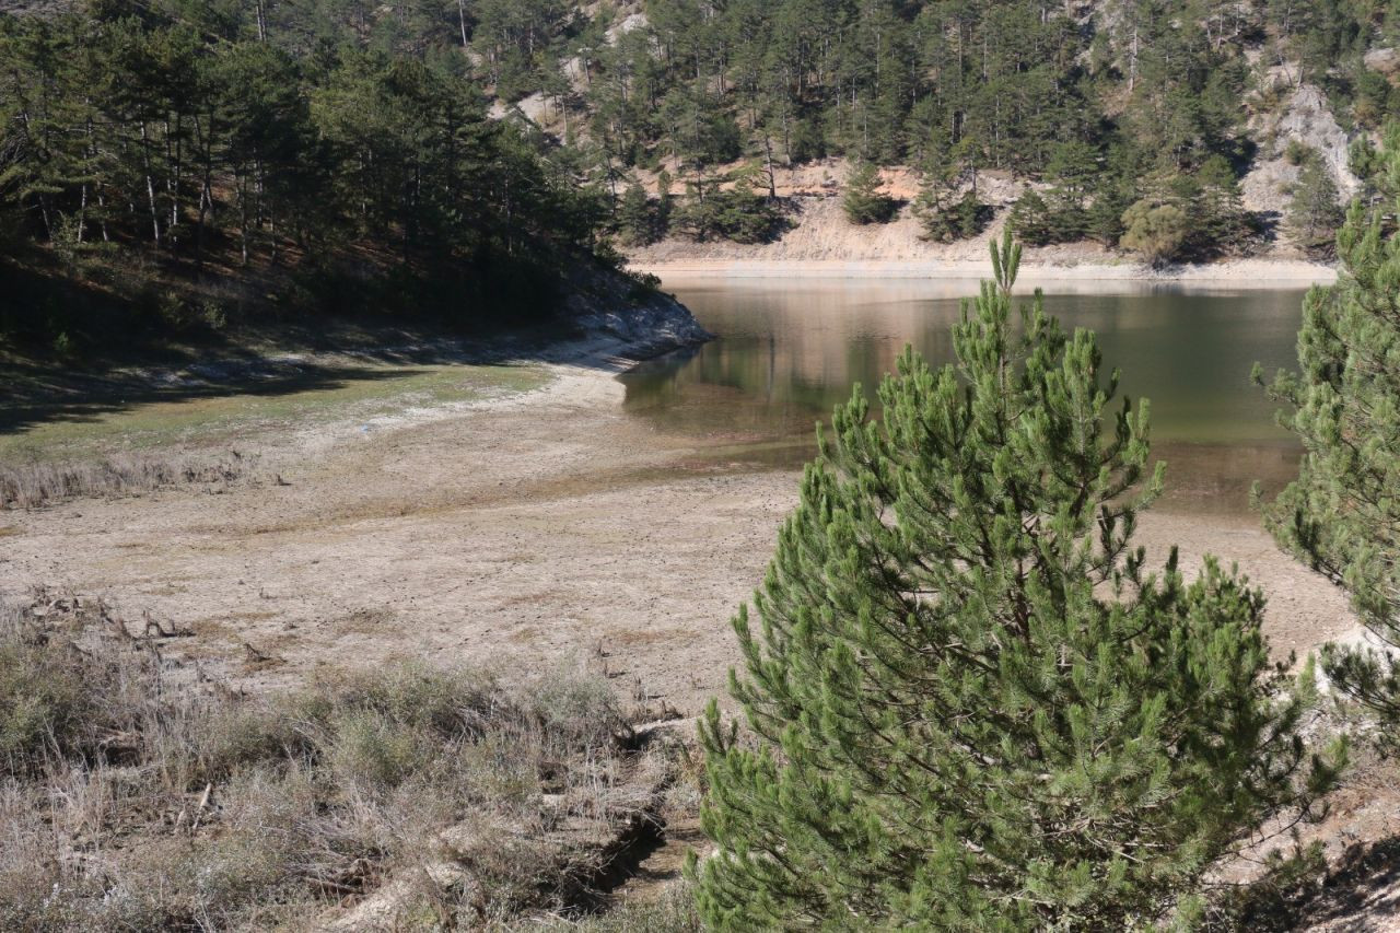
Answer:
[[(797, 466), (813, 424), (860, 382), (871, 395), (906, 343), (952, 357), (951, 326), (973, 280), (701, 280), (665, 287), (720, 339), (623, 377), (626, 410), (694, 436), (715, 461)], [(1149, 398), (1154, 451), (1168, 461), (1162, 507), (1243, 513), (1295, 469), (1298, 445), (1249, 380), (1295, 364), (1302, 290), (1050, 283), (1046, 310), (1092, 328), (1120, 394)], [(1074, 290), (1075, 293), (1070, 293)], [(1029, 300), (1029, 289), (1026, 300)]]

